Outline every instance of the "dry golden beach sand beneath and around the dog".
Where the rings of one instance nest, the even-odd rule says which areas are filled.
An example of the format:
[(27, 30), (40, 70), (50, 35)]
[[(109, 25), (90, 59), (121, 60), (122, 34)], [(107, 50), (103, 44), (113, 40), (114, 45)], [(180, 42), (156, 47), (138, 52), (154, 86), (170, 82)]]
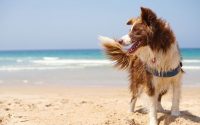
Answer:
[[(1, 86), (0, 125), (146, 125), (141, 101), (135, 113), (129, 102), (126, 87)], [(170, 110), (170, 94), (162, 104)], [(180, 110), (158, 113), (159, 125), (199, 125), (199, 87), (183, 88)]]

